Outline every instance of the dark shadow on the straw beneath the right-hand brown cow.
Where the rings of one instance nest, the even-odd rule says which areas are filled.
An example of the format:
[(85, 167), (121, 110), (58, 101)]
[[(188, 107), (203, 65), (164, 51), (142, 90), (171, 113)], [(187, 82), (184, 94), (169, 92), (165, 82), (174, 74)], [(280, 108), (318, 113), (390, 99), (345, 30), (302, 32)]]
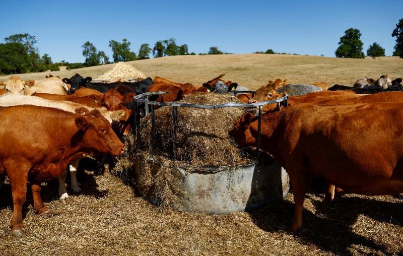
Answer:
[[(304, 208), (303, 227), (294, 234), (304, 243), (311, 243), (323, 251), (336, 255), (351, 254), (353, 244), (385, 251), (385, 245), (352, 230), (359, 215), (394, 225), (403, 225), (402, 204), (363, 198), (340, 198), (331, 206), (322, 208), (321, 202), (311, 199), (316, 214)], [(387, 209), (387, 211), (385, 211)], [(252, 221), (267, 232), (285, 231), (291, 225), (294, 203), (278, 201), (263, 209), (250, 212)], [(394, 216), (390, 219), (390, 216)]]

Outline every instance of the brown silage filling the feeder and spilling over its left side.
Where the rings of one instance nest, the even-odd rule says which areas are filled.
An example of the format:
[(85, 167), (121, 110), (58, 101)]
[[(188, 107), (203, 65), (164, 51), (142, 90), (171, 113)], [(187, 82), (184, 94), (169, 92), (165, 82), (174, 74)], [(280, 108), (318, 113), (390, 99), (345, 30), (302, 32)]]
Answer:
[[(196, 93), (179, 102), (220, 104), (239, 102), (228, 94)], [(245, 108), (196, 109), (178, 108), (176, 158), (172, 158), (172, 108), (155, 110), (155, 147), (151, 152), (151, 114), (141, 120), (141, 144), (136, 153), (132, 133), (125, 138), (126, 152), (119, 156), (113, 172), (128, 184), (135, 184), (139, 193), (164, 208), (179, 204), (184, 194), (178, 168), (192, 172), (203, 166), (243, 166), (256, 162), (247, 150), (240, 150), (228, 135)], [(133, 165), (141, 173), (130, 177)], [(231, 170), (232, 168), (229, 168)]]

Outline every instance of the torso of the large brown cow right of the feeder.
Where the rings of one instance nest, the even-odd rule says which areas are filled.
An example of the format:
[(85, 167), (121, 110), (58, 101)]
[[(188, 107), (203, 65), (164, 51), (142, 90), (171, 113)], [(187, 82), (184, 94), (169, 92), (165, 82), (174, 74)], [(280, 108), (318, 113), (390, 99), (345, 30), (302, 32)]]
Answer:
[(286, 169), (301, 168), (369, 195), (379, 190), (362, 187), (392, 176), (403, 178), (403, 167), (398, 165), (403, 160), (402, 103), (301, 104), (289, 107), (285, 114), (279, 140), (285, 141), (281, 152)]

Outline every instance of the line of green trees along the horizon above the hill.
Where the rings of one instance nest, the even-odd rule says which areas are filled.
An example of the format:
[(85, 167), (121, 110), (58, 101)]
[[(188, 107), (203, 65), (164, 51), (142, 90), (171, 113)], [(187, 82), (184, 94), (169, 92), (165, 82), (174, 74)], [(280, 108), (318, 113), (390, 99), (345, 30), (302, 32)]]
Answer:
[[(335, 50), (336, 57), (344, 58), (364, 58), (363, 42), (361, 41), (361, 32), (358, 29), (350, 28), (340, 38), (339, 47)], [(396, 28), (392, 32), (392, 37), (396, 37), (393, 56), (403, 58), (403, 18), (396, 24)], [(67, 69), (78, 69), (96, 65), (110, 63), (109, 57), (103, 50), (98, 51), (90, 41), (82, 45), (82, 53), (85, 57), (84, 63), (69, 63), (67, 61), (53, 62), (49, 54), (44, 53), (40, 56), (37, 40), (35, 36), (28, 33), (15, 34), (6, 37), (5, 43), (0, 43), (0, 74), (15, 74), (28, 72), (57, 71), (59, 66), (66, 66)], [(194, 52), (189, 53), (187, 44), (177, 44), (176, 39), (171, 37), (166, 40), (159, 40), (154, 47), (148, 43), (143, 43), (138, 53), (130, 49), (131, 43), (123, 38), (121, 42), (110, 40), (109, 47), (112, 50), (113, 62), (130, 61), (137, 59), (148, 59), (152, 54), (153, 57), (174, 56), (174, 55), (196, 55)], [(265, 52), (257, 51), (255, 53), (276, 53), (273, 49)], [(207, 53), (203, 54), (231, 54), (223, 52), (217, 46), (211, 46)], [(279, 53), (280, 54), (280, 53)], [(281, 54), (286, 54), (285, 52)], [(294, 53), (295, 54), (295, 53)], [(323, 54), (321, 54), (323, 55)], [(373, 58), (385, 56), (385, 49), (378, 43), (374, 42), (367, 49), (367, 56)]]

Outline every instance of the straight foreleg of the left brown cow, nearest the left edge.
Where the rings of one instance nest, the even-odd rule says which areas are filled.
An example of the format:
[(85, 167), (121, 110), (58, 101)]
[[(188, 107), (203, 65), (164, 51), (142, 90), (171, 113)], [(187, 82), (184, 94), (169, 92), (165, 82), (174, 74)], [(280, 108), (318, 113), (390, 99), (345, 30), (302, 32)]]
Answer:
[[(19, 166), (21, 168), (21, 166)], [(17, 169), (17, 168), (16, 168)], [(28, 168), (7, 170), (13, 193), (13, 216), (11, 217), (11, 230), (15, 236), (22, 236), (22, 205), (27, 196)]]

